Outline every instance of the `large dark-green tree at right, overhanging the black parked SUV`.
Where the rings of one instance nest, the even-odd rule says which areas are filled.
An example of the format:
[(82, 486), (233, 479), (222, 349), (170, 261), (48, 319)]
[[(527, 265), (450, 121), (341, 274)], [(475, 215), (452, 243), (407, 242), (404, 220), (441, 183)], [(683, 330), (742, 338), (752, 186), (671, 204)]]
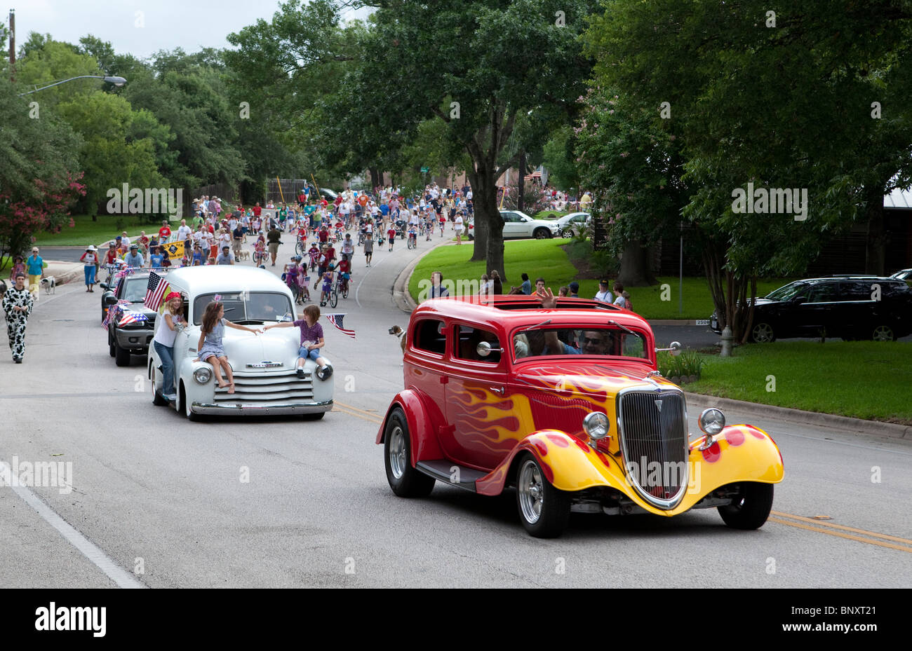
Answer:
[[(743, 340), (758, 275), (800, 273), (828, 234), (876, 213), (885, 192), (909, 178), (910, 108), (901, 97), (912, 5), (605, 6), (586, 35), (596, 85), (623, 89), (629, 105), (683, 138), (682, 180), (692, 188), (683, 213), (703, 240), (721, 320)], [(807, 190), (807, 219), (741, 212), (733, 193), (748, 183)]]

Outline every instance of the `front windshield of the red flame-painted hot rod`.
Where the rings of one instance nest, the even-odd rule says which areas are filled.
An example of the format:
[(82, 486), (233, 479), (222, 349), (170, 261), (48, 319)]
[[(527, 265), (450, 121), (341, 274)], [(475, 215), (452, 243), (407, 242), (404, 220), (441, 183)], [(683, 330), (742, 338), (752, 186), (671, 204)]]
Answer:
[(580, 354), (649, 359), (646, 339), (642, 335), (605, 327), (521, 331), (513, 335), (513, 352), (517, 360)]

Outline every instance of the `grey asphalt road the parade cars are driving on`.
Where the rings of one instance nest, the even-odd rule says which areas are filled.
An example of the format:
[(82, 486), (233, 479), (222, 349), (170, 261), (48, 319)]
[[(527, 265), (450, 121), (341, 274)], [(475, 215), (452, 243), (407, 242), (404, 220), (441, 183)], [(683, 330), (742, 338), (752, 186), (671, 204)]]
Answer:
[(563, 537), (539, 540), (513, 491), (438, 483), (428, 498), (396, 497), (374, 441), (402, 386), (387, 330), (408, 317), (391, 287), (420, 244), (378, 248), (370, 270), (356, 258), (356, 291), (337, 311), (358, 340), (324, 322), (337, 409), (320, 422), (187, 422), (152, 405), (140, 359), (114, 365), (97, 294), (73, 283), (42, 298), (25, 363), (0, 356), (0, 460), (72, 463), (73, 488), (0, 488), (0, 585), (907, 587), (912, 446), (886, 438), (730, 412), (770, 432), (785, 462), (774, 514), (754, 532), (715, 510), (573, 514)]

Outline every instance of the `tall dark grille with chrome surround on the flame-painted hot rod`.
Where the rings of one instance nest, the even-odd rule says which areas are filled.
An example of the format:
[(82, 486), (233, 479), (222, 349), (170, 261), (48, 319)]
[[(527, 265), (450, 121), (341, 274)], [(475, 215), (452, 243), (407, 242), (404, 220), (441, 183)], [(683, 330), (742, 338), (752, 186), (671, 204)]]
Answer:
[(617, 402), (617, 429), (631, 485), (649, 504), (673, 508), (687, 490), (689, 476), (683, 394), (621, 392)]

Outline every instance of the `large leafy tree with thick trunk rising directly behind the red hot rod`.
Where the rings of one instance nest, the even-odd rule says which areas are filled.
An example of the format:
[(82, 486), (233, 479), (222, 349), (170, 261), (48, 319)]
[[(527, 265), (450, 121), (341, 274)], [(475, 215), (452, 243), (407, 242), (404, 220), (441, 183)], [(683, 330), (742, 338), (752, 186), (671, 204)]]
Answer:
[[(496, 183), (523, 147), (540, 147), (554, 125), (572, 115), (590, 69), (577, 39), (590, 3), (367, 4), (376, 11), (361, 59), (330, 105), (337, 129), (362, 138), (362, 147), (382, 151), (390, 141), (415, 137), (423, 121), (442, 121), (447, 140), (471, 159), (472, 259), (485, 259), (489, 271), (505, 278)], [(521, 121), (529, 139), (504, 155)]]

